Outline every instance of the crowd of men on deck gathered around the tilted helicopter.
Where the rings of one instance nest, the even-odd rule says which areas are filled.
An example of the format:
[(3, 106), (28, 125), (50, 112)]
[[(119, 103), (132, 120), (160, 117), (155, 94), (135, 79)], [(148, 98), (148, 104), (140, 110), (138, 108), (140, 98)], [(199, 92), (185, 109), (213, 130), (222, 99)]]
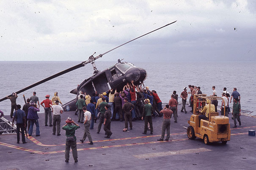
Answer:
[[(187, 92), (187, 89), (189, 89), (189, 92)], [(212, 96), (217, 96), (215, 86), (212, 86), (212, 90)], [(188, 88), (183, 88), (180, 97), (182, 98), (181, 112), (184, 113), (187, 113), (186, 102), (188, 94), (191, 94), (189, 97), (189, 107), (192, 107), (191, 112), (193, 112), (193, 97), (195, 94), (202, 94), (201, 87), (189, 85)], [(239, 122), (239, 125), (241, 125), (239, 118), (241, 114), (239, 92), (234, 88), (230, 95), (226, 91), (226, 88), (224, 88), (221, 94), (223, 101), (220, 105), (220, 114), (224, 114), (225, 106), (225, 116), (228, 116), (228, 113), (230, 112), (229, 103), (231, 103), (233, 98), (232, 119), (234, 119), (234, 127), (237, 127), (236, 120)], [(59, 105), (61, 100), (58, 97), (58, 92), (54, 93), (52, 100), (50, 100), (50, 95), (47, 94), (45, 100), (43, 100), (40, 105), (39, 97), (36, 96), (36, 92), (33, 92), (33, 95), (27, 99), (27, 103), (22, 109), (21, 105), (16, 104), (17, 97), (18, 95), (16, 93), (13, 93), (11, 97), (8, 97), (8, 99), (11, 100), (10, 116), (13, 119), (13, 124), (15, 120), (17, 121), (17, 143), (19, 143), (19, 131), (22, 133), (22, 143), (27, 143), (25, 141), (24, 131), (28, 128), (28, 134), (31, 136), (34, 124), (36, 124), (36, 136), (40, 136), (39, 116), (37, 114), (37, 112), (40, 111), (40, 105), (44, 108), (44, 125), (48, 126), (49, 119), (49, 126), (52, 127), (52, 135), (56, 135), (56, 133), (58, 136), (61, 135), (61, 114), (63, 113), (63, 108)], [(229, 97), (231, 98), (229, 99)], [(164, 140), (165, 131), (167, 132), (165, 140), (169, 140), (170, 138), (170, 122), (172, 115), (174, 117), (174, 122), (178, 122), (178, 94), (176, 94), (176, 91), (173, 91), (171, 94), (171, 99), (169, 100), (169, 103), (165, 105), (165, 108), (162, 108), (162, 101), (155, 90), (150, 90), (149, 87), (145, 87), (144, 84), (139, 86), (134, 85), (133, 81), (128, 82), (120, 92), (117, 92), (116, 89), (110, 89), (102, 94), (97, 94), (97, 92), (95, 92), (90, 96), (89, 94), (80, 91), (78, 98), (76, 103), (77, 111), (75, 112), (75, 114), (78, 115), (77, 123), (83, 123), (85, 127), (83, 138), (80, 139), (81, 143), (88, 137), (88, 144), (93, 144), (90, 129), (94, 129), (94, 123), (96, 123), (97, 120), (97, 133), (100, 133), (103, 124), (103, 129), (106, 135), (105, 138), (110, 138), (112, 135), (111, 121), (124, 121), (123, 131), (127, 132), (128, 122), (130, 130), (132, 130), (132, 121), (144, 120), (143, 134), (146, 134), (148, 130), (150, 130), (150, 134), (153, 134), (152, 117), (163, 116), (162, 134), (161, 138), (158, 139), (160, 141)], [(211, 110), (217, 112), (218, 103), (216, 101), (217, 100), (212, 100)], [(209, 101), (206, 101), (206, 103), (209, 104)], [(200, 107), (200, 105), (198, 107)], [(207, 116), (209, 112), (207, 113), (207, 107), (202, 108), (202, 115), (199, 116), (199, 119), (208, 119)], [(0, 111), (0, 113), (0, 117), (3, 116), (3, 112)], [(73, 157), (75, 162), (77, 162), (76, 138), (74, 136), (75, 130), (80, 128), (77, 123), (75, 123), (74, 119), (68, 118), (66, 124), (62, 127), (62, 129), (66, 131), (67, 136), (65, 152), (66, 162), (69, 161), (70, 147), (72, 150), (74, 149)]]

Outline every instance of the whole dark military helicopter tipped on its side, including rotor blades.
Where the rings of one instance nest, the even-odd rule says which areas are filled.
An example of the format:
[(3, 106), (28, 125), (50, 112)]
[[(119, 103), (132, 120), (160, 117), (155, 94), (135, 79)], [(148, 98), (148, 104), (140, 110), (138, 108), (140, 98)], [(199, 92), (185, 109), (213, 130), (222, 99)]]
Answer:
[[(156, 30), (153, 30), (151, 32), (160, 30), (161, 28), (166, 27), (175, 22), (166, 24), (165, 26), (157, 28)], [(94, 52), (94, 54), (91, 55), (88, 60), (81, 62), (80, 64), (70, 67), (66, 70), (63, 70), (59, 73), (56, 73), (50, 77), (44, 78), (43, 80), (36, 82), (30, 86), (27, 86), (27, 87), (17, 91), (16, 94), (24, 92), (28, 89), (31, 89), (39, 84), (42, 84), (42, 83), (49, 81), (53, 78), (56, 78), (58, 76), (61, 76), (61, 75), (68, 73), (72, 70), (83, 67), (83, 66), (87, 65), (88, 63), (92, 64), (93, 69), (94, 69), (94, 75), (91, 76), (90, 78), (85, 79), (82, 83), (80, 83), (77, 86), (76, 89), (73, 89), (70, 93), (76, 94), (78, 96), (80, 94), (79, 93), (80, 91), (85, 92), (86, 94), (89, 94), (89, 95), (92, 95), (94, 92), (98, 92), (98, 93), (106, 92), (109, 89), (117, 89), (117, 90), (121, 91), (123, 86), (127, 82), (131, 82), (132, 80), (134, 81), (135, 85), (142, 84), (143, 81), (145, 81), (146, 76), (147, 76), (146, 70), (144, 70), (143, 68), (135, 67), (135, 65), (128, 63), (128, 62), (121, 62), (121, 60), (118, 59), (118, 63), (116, 63), (115, 65), (107, 68), (104, 71), (99, 71), (96, 68), (95, 60), (101, 58), (103, 55), (109, 53), (110, 51), (113, 51), (121, 46), (124, 46), (125, 44), (127, 44), (133, 40), (136, 40), (145, 35), (148, 35), (151, 32), (141, 35), (135, 39), (132, 39), (120, 46), (117, 46), (117, 47), (103, 53), (103, 54), (99, 54), (96, 57), (94, 57), (94, 54), (96, 53), (96, 52)], [(8, 95), (8, 97), (10, 97), (11, 95), (12, 94)], [(2, 99), (0, 99), (0, 102), (3, 100), (6, 100), (6, 99), (7, 99), (7, 97), (3, 97)], [(70, 102), (62, 105), (62, 107), (64, 108), (64, 111), (75, 111), (76, 110), (75, 104), (76, 104), (77, 100), (78, 100), (78, 97), (76, 97), (74, 100), (71, 100)]]

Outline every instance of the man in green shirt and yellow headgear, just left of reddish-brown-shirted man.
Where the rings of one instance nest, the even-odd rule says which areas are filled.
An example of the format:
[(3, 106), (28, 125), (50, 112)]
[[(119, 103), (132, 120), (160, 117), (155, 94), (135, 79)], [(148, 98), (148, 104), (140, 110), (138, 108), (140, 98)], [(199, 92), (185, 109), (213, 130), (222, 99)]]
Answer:
[(149, 122), (150, 134), (152, 135), (153, 134), (153, 124), (152, 124), (153, 107), (149, 103), (149, 99), (145, 99), (144, 102), (146, 103), (146, 105), (144, 105), (144, 107), (143, 107), (143, 114), (141, 117), (141, 120), (143, 120), (143, 118), (144, 118), (144, 121), (145, 121), (143, 134), (147, 134), (148, 122)]

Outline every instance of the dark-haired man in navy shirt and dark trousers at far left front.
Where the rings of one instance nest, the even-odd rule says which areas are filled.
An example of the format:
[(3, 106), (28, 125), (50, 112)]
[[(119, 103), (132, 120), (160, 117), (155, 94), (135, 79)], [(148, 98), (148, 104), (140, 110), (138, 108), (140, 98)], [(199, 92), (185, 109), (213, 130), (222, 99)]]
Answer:
[(17, 105), (17, 110), (14, 112), (14, 118), (12, 119), (12, 126), (14, 126), (14, 120), (16, 119), (16, 132), (17, 132), (17, 143), (19, 143), (19, 131), (21, 131), (22, 143), (27, 143), (25, 140), (24, 130), (26, 127), (26, 114), (22, 111), (20, 105)]

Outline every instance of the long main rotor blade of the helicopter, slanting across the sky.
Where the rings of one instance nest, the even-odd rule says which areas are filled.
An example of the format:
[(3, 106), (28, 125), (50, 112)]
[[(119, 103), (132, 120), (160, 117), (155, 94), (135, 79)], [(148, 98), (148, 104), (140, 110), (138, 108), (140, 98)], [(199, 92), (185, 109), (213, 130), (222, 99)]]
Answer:
[[(166, 24), (165, 26), (162, 26), (162, 27), (160, 27), (160, 28), (157, 28), (156, 30), (153, 30), (153, 31), (151, 31), (151, 32), (160, 30), (161, 28), (166, 27), (166, 26), (168, 26), (168, 25), (171, 25), (171, 24), (173, 24), (173, 23), (175, 23), (175, 22), (176, 22), (176, 21), (171, 22), (171, 23), (169, 23), (169, 24)], [(105, 52), (105, 53), (103, 53), (103, 54), (99, 54), (99, 55), (96, 56), (96, 57), (93, 56), (93, 55), (96, 53), (96, 52), (94, 52), (94, 54), (91, 55), (88, 60), (86, 60), (86, 61), (84, 61), (84, 62), (82, 62), (82, 63), (80, 63), (80, 64), (78, 64), (78, 65), (75, 65), (75, 66), (73, 66), (73, 67), (70, 67), (70, 68), (68, 68), (68, 69), (66, 69), (66, 70), (63, 70), (63, 71), (61, 71), (61, 72), (59, 72), (59, 73), (56, 73), (56, 74), (54, 74), (54, 75), (52, 75), (52, 76), (50, 76), (50, 77), (44, 78), (43, 80), (38, 81), (38, 82), (36, 82), (36, 83), (34, 83), (34, 84), (31, 84), (30, 86), (27, 86), (27, 87), (25, 87), (25, 88), (23, 88), (23, 89), (17, 91), (16, 94), (19, 94), (19, 93), (21, 93), (21, 92), (24, 92), (24, 91), (26, 91), (26, 90), (28, 90), (28, 89), (31, 89), (31, 88), (35, 87), (35, 86), (38, 86), (39, 84), (42, 84), (42, 83), (44, 83), (44, 82), (46, 82), (46, 81), (49, 81), (49, 80), (51, 80), (51, 79), (53, 79), (53, 78), (56, 78), (56, 77), (58, 77), (58, 76), (61, 76), (61, 75), (65, 74), (65, 73), (68, 73), (68, 72), (70, 72), (70, 71), (76, 70), (77, 68), (83, 67), (83, 66), (87, 65), (88, 63), (94, 63), (94, 61), (95, 61), (96, 59), (99, 59), (100, 57), (102, 57), (103, 55), (109, 53), (110, 51), (113, 51), (113, 50), (115, 50), (115, 49), (117, 49), (117, 48), (119, 48), (119, 47), (121, 47), (121, 46), (124, 46), (124, 45), (127, 44), (127, 43), (130, 43), (130, 42), (132, 42), (132, 41), (134, 41), (134, 40), (137, 40), (138, 38), (141, 38), (141, 37), (143, 37), (143, 36), (145, 36), (145, 35), (148, 35), (148, 34), (150, 34), (151, 32), (148, 32), (148, 33), (146, 33), (146, 34), (144, 34), (144, 35), (141, 35), (141, 36), (139, 36), (139, 37), (137, 37), (137, 38), (134, 38), (134, 39), (132, 39), (132, 40), (129, 40), (128, 42), (126, 42), (126, 43), (124, 43), (124, 44), (122, 44), (122, 45), (120, 45), (120, 46), (117, 46), (117, 47), (115, 47), (115, 48), (113, 48), (113, 49), (111, 49), (111, 50), (109, 50), (109, 51), (107, 51), (107, 52)], [(11, 95), (12, 95), (12, 94), (8, 95), (8, 97), (11, 97)], [(7, 97), (3, 97), (2, 99), (0, 99), (0, 102), (2, 102), (3, 100), (6, 100), (6, 99), (7, 99)]]

